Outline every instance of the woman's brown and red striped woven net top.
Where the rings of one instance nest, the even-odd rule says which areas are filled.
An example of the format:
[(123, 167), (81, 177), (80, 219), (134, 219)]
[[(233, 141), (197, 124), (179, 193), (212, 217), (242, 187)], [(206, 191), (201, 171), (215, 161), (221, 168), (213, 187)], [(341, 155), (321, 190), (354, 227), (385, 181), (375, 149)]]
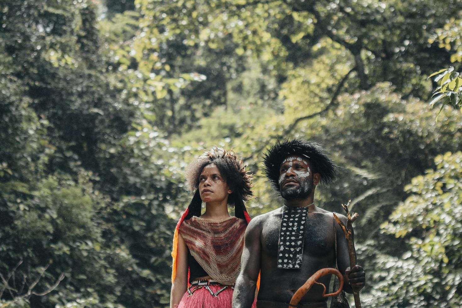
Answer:
[(234, 284), (241, 269), (246, 227), (244, 219), (234, 216), (219, 221), (193, 216), (181, 223), (179, 233), (212, 279)]

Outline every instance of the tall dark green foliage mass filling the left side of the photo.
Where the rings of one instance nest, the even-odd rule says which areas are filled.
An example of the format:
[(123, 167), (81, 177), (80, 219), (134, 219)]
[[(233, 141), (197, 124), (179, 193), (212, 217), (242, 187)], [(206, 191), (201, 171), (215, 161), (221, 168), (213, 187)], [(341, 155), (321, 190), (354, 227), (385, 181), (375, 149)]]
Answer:
[[(151, 157), (164, 141), (130, 139), (147, 128), (107, 74), (96, 11), (83, 0), (0, 9), (0, 273), (24, 277), (0, 296), (12, 307), (167, 301), (165, 208), (182, 188)], [(16, 301), (36, 279), (33, 293), (50, 292)]]

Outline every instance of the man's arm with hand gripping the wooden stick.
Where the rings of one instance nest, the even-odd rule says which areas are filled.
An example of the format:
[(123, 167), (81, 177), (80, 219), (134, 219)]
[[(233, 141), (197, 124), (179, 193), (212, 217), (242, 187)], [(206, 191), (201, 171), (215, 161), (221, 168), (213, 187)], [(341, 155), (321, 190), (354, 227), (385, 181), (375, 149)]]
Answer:
[[(346, 217), (340, 214), (336, 215), (346, 226)], [(348, 253), (348, 243), (346, 242), (345, 234), (338, 223), (335, 223), (335, 230), (337, 232), (337, 266), (345, 279), (343, 290), (347, 293), (359, 291), (366, 283), (365, 272), (359, 265), (355, 265), (353, 268), (350, 268), (350, 255)]]

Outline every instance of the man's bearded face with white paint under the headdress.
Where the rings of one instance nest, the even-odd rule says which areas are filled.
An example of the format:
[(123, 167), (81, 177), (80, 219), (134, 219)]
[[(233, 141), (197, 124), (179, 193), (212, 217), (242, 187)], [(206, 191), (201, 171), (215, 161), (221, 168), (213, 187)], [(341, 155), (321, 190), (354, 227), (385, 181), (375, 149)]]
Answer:
[(279, 186), (284, 199), (306, 197), (313, 190), (313, 177), (308, 161), (300, 156), (289, 156), (280, 167)]

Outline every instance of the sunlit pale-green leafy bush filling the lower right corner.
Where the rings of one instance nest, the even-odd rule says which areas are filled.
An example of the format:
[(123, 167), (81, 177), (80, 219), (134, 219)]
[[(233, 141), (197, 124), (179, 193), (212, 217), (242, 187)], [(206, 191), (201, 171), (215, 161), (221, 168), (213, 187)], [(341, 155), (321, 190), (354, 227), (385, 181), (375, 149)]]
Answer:
[[(378, 258), (368, 307), (460, 307), (462, 152), (435, 158), (436, 169), (414, 177), (410, 194), (382, 224), (406, 243), (401, 258)], [(382, 259), (382, 260), (380, 260)]]

